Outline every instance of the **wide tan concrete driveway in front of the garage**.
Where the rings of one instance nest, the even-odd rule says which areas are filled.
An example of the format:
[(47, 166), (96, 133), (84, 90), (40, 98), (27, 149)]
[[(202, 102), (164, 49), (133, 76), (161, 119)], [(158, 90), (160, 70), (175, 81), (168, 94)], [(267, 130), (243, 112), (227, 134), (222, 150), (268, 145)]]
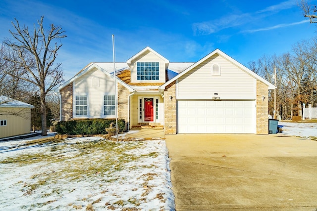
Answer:
[(177, 211), (317, 210), (317, 141), (279, 134), (165, 140)]

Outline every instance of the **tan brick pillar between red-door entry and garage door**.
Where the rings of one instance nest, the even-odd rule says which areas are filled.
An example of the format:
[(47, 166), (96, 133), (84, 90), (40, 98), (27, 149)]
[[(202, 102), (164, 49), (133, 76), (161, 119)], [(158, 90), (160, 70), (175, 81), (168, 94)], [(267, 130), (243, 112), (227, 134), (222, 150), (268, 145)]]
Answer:
[[(172, 100), (170, 100), (172, 96)], [(173, 82), (164, 90), (165, 134), (176, 134), (176, 84)]]

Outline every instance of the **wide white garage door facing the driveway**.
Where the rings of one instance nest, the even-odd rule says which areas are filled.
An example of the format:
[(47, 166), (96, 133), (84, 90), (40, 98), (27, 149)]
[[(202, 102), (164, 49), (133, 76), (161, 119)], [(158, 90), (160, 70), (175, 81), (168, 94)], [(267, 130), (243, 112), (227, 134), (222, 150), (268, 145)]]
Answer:
[(254, 100), (178, 100), (178, 133), (256, 133)]

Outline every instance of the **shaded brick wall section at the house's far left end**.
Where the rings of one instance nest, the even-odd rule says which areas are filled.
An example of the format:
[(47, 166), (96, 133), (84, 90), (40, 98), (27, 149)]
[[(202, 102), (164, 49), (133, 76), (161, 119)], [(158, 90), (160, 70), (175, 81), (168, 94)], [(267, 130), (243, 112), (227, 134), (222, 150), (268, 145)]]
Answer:
[(60, 90), (61, 94), (61, 120), (67, 121), (73, 118), (73, 83)]

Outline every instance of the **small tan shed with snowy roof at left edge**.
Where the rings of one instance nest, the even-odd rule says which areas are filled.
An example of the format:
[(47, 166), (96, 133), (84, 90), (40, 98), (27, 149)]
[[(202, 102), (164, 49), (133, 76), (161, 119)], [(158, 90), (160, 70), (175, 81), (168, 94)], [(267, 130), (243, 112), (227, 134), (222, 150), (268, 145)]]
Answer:
[(0, 138), (30, 133), (33, 105), (0, 96)]

